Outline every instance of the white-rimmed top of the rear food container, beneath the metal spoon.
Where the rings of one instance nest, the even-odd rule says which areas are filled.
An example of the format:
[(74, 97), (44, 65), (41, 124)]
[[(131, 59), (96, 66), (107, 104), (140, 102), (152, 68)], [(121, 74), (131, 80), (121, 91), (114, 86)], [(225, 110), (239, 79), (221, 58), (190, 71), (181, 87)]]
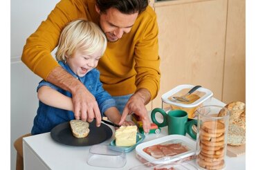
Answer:
[(191, 96), (193, 97), (192, 99), (190, 99), (190, 102), (179, 102), (176, 100), (172, 100), (172, 97), (174, 96), (185, 95), (193, 87), (194, 85), (191, 85), (191, 84), (182, 84), (182, 85), (176, 86), (175, 88), (172, 88), (171, 91), (168, 91), (167, 93), (162, 95), (161, 97), (162, 101), (165, 102), (166, 104), (172, 104), (174, 106), (180, 106), (183, 108), (192, 108), (192, 107), (199, 106), (199, 104), (205, 102), (213, 95), (212, 91), (208, 90), (207, 88), (201, 87), (191, 94)]

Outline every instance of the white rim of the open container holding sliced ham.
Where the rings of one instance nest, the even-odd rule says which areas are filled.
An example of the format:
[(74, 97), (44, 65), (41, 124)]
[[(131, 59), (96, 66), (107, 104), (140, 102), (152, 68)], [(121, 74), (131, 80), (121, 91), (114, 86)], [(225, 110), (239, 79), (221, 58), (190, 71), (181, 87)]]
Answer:
[[(174, 156), (166, 156), (160, 159), (154, 158), (152, 155), (149, 155), (143, 149), (147, 147), (152, 147), (156, 144), (175, 144), (175, 143), (181, 143), (185, 147), (188, 148), (188, 151), (181, 153), (179, 155)], [(190, 138), (184, 136), (184, 135), (167, 135), (163, 138), (158, 138), (156, 140), (150, 140), (148, 142), (144, 142), (142, 144), (138, 144), (136, 147), (136, 153), (140, 155), (140, 157), (144, 158), (148, 162), (152, 162), (154, 164), (163, 164), (167, 162), (174, 162), (177, 160), (182, 160), (183, 158), (188, 158), (191, 155), (195, 155), (196, 153), (196, 142), (194, 140), (191, 140)]]

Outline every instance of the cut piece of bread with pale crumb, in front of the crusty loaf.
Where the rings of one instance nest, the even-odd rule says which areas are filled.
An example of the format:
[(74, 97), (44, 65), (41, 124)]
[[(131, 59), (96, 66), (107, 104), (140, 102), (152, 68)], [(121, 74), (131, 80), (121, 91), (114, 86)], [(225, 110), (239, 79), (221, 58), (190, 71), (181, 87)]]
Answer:
[(239, 146), (246, 143), (246, 131), (236, 124), (228, 126), (228, 144)]

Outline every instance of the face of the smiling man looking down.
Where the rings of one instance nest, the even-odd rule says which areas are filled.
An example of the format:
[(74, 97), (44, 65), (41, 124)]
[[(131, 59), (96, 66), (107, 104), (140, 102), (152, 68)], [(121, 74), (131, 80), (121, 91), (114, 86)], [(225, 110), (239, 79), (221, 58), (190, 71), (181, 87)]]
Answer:
[(110, 42), (118, 41), (118, 39), (122, 38), (122, 35), (130, 32), (138, 17), (138, 12), (126, 15), (116, 8), (109, 8), (105, 14), (100, 13), (97, 7), (96, 11), (100, 15), (100, 28)]

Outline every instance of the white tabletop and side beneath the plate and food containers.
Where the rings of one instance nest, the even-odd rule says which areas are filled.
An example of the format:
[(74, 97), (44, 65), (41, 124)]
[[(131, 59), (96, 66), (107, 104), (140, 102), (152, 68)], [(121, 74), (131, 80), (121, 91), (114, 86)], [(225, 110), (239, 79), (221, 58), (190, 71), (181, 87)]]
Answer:
[[(217, 104), (224, 106), (222, 102), (212, 97), (209, 104)], [(150, 112), (149, 112), (150, 114)], [(113, 127), (111, 127), (113, 130)], [(146, 135), (144, 142), (160, 138), (167, 135), (167, 127), (161, 129), (161, 134)], [(102, 142), (109, 144), (111, 139)], [(71, 147), (55, 142), (50, 133), (34, 135), (23, 140), (24, 147), (24, 169), (41, 170), (41, 169), (113, 169), (92, 167), (86, 163), (90, 147)], [(190, 161), (194, 164), (195, 160)], [(136, 151), (127, 153), (127, 163), (121, 169), (129, 169), (141, 163), (136, 158)], [(246, 155), (240, 155), (237, 158), (226, 157), (226, 169), (246, 169)]]

